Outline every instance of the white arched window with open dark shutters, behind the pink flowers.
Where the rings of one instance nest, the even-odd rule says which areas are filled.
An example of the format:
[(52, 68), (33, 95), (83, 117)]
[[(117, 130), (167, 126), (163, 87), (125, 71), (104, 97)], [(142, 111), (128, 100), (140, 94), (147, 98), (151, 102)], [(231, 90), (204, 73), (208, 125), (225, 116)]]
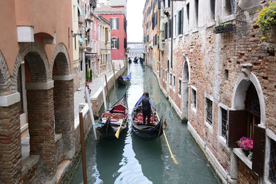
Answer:
[(233, 177), (242, 177), (244, 168), (253, 178), (257, 178), (254, 172), (262, 176), (266, 139), (264, 94), (257, 77), (248, 69), (239, 75), (235, 83), (232, 110), (229, 110), (228, 116), (228, 147), (238, 148), (237, 141), (243, 136), (253, 139), (253, 160), (250, 161), (252, 166), (240, 166), (246, 164), (242, 159), (244, 154), (237, 154), (239, 151), (234, 149), (237, 156), (231, 157), (231, 167), (237, 176)]

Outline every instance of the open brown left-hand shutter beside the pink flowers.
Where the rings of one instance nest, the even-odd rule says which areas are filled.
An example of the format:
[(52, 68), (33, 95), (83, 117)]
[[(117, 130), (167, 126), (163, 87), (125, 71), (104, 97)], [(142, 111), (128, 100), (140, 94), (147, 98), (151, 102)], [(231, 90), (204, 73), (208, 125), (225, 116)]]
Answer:
[(237, 141), (246, 136), (247, 113), (245, 110), (229, 110), (228, 147), (238, 147)]

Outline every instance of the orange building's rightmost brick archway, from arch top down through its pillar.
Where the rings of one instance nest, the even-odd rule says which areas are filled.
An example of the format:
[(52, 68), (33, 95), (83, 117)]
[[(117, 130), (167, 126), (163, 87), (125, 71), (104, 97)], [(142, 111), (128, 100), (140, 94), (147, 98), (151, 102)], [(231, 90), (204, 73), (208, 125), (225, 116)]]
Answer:
[(75, 153), (74, 74), (70, 73), (70, 59), (63, 43), (57, 44), (51, 64), (54, 80), (55, 136), (62, 137), (63, 140), (63, 149), (57, 150), (56, 154), (59, 162), (63, 157), (72, 159)]

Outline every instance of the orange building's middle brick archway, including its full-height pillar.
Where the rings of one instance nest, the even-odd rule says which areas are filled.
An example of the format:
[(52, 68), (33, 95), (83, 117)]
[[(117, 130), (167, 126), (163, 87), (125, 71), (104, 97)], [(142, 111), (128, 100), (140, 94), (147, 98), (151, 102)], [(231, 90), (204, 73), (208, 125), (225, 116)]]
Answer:
[(34, 160), (49, 180), (56, 170), (53, 81), (46, 53), (39, 43), (21, 45), (14, 65), (12, 88), (26, 96), (26, 101), (22, 101), (23, 98), (20, 102), (23, 110), (27, 107), (24, 113), (28, 114), (28, 132), (21, 136), (23, 163)]

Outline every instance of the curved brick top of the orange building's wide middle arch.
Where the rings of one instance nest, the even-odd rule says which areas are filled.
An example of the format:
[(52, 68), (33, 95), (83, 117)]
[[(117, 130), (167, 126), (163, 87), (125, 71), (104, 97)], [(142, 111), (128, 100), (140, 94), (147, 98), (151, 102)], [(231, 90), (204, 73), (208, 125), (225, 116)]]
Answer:
[(12, 74), (12, 92), (17, 92), (17, 75), (22, 61), (30, 67), (32, 82), (50, 81), (49, 63), (45, 50), (37, 42), (23, 43), (14, 63)]

